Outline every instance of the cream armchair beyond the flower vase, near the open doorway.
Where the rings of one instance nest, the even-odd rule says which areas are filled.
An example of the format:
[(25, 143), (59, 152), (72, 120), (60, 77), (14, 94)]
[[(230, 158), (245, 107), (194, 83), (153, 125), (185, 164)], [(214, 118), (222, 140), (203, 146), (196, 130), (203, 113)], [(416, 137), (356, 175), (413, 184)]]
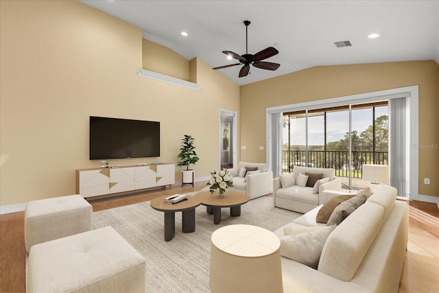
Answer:
[[(246, 172), (246, 167), (256, 170)], [(233, 187), (228, 190), (248, 194), (250, 200), (273, 192), (273, 172), (265, 169), (265, 163), (239, 162), (238, 167), (228, 169), (228, 173), (233, 176)]]

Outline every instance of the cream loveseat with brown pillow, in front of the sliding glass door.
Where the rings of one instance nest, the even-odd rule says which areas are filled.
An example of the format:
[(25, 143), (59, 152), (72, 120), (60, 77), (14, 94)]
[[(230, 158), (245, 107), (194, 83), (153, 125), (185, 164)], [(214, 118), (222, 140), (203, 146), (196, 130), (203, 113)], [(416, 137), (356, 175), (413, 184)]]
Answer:
[[(296, 185), (299, 174), (322, 174), (313, 187)], [(342, 179), (334, 176), (334, 169), (294, 166), (293, 173), (273, 180), (274, 207), (307, 213), (322, 204), (322, 191), (342, 191)]]

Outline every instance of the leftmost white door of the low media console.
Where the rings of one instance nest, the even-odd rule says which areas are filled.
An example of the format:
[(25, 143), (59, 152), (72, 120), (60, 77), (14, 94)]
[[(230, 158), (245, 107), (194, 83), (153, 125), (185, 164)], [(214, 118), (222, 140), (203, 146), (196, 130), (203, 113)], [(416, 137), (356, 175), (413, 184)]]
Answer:
[(83, 170), (77, 174), (77, 192), (83, 198), (110, 193), (110, 169)]

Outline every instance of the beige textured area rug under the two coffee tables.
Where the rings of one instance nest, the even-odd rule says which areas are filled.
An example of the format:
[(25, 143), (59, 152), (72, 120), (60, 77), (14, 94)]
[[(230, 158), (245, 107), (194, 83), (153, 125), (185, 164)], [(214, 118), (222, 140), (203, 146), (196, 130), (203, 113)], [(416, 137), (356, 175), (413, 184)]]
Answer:
[(195, 232), (182, 233), (181, 213), (176, 213), (176, 235), (170, 242), (163, 239), (163, 213), (150, 202), (93, 213), (93, 228), (112, 226), (145, 257), (147, 292), (210, 292), (209, 261), (211, 235), (222, 226), (251, 224), (270, 231), (298, 218), (300, 213), (272, 206), (273, 198), (263, 196), (241, 207), (240, 217), (230, 217), (222, 209), (222, 221), (213, 224), (206, 207), (195, 209)]

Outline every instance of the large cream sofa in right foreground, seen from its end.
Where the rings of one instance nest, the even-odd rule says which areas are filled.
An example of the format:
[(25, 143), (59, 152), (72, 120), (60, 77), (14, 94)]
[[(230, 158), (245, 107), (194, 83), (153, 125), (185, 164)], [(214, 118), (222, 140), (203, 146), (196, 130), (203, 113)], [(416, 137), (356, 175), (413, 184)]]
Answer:
[[(395, 199), (394, 187), (381, 187), (335, 226), (323, 240), (317, 269), (282, 257), (284, 292), (397, 292), (406, 257), (408, 205)], [(285, 228), (326, 226), (316, 223), (322, 207), (274, 233), (283, 242), (291, 237), (285, 236)], [(283, 255), (285, 243), (281, 244)]]

